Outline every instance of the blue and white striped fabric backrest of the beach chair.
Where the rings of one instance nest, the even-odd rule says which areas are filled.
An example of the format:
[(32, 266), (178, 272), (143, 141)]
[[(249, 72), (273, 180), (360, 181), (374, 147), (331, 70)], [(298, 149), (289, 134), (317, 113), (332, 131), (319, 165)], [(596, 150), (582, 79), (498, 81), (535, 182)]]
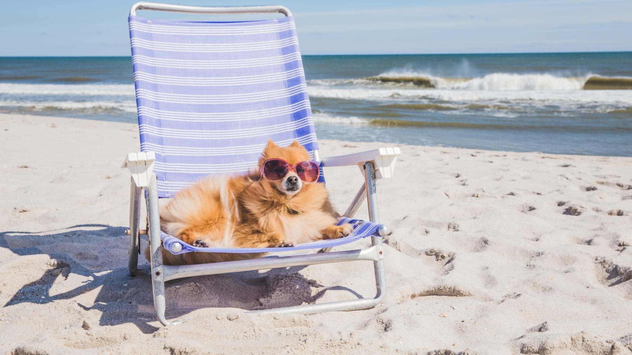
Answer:
[(129, 23), (140, 147), (155, 152), (159, 196), (252, 169), (269, 138), (318, 149), (291, 16)]

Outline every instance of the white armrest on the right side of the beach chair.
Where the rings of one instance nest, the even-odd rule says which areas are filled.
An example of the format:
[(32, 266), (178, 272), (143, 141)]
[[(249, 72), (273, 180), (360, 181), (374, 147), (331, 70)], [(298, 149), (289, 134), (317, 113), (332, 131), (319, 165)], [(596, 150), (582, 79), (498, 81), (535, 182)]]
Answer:
[[(392, 177), (397, 156), (400, 154), (399, 147), (377, 148), (366, 152), (324, 157), (321, 161), (324, 167), (362, 165), (364, 162), (372, 161), (375, 165), (375, 178), (387, 179)], [(360, 168), (362, 169), (362, 166)]]

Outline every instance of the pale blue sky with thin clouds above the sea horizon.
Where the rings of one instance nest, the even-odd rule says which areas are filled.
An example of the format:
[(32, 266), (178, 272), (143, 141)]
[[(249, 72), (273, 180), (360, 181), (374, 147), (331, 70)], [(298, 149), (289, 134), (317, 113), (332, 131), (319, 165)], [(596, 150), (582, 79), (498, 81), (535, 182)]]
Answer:
[[(270, 4), (258, 2), (262, 0), (190, 1), (178, 0), (178, 3)], [(130, 56), (127, 16), (133, 3), (5, 1), (0, 12), (0, 56)], [(279, 3), (295, 16), (303, 54), (632, 51), (630, 0), (283, 0)], [(137, 15), (180, 20), (208, 18), (155, 11), (138, 11)], [(212, 19), (237, 17), (223, 15)]]

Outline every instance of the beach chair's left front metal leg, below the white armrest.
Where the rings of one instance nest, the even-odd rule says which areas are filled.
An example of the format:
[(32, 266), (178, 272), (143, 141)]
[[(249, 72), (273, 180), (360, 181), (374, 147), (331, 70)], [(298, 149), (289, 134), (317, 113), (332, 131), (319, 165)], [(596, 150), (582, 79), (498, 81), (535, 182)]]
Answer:
[(160, 214), (158, 208), (158, 186), (155, 174), (149, 180), (147, 186), (147, 215), (149, 215), (149, 248), (151, 258), (152, 289), (154, 291), (154, 307), (158, 320), (162, 325), (174, 325), (181, 321), (169, 322), (164, 317), (166, 301), (164, 295), (164, 272), (162, 267), (162, 250), (160, 239)]

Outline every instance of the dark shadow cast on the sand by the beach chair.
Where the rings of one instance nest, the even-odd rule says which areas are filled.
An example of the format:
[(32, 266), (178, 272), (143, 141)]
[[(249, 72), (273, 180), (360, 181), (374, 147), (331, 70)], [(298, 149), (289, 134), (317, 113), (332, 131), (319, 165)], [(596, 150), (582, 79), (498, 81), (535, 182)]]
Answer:
[[(85, 311), (102, 312), (99, 325), (133, 323), (145, 334), (155, 332), (158, 328), (150, 325), (157, 323), (157, 318), (149, 275), (130, 277), (128, 274), (129, 237), (125, 236), (126, 229), (104, 224), (82, 224), (54, 231), (0, 232), (0, 248), (7, 248), (19, 256), (48, 255), (59, 260), (58, 265), (46, 265), (44, 261), (42, 267), (37, 268), (38, 272), (44, 270), (39, 279), (23, 284), (2, 307), (70, 300), (99, 288), (94, 304), (76, 301)], [(145, 245), (146, 240), (142, 242), (142, 247)], [(97, 249), (106, 251), (95, 253)], [(144, 261), (143, 256), (139, 259), (139, 263)], [(30, 262), (23, 262), (30, 265)], [(149, 263), (145, 264), (140, 267), (149, 268)], [(33, 268), (33, 265), (30, 267)], [(315, 303), (330, 290), (346, 291), (353, 297), (362, 298), (358, 292), (347, 287), (325, 287), (307, 279), (300, 274), (303, 268), (255, 270), (169, 281), (166, 283), (166, 316), (168, 319), (187, 318), (188, 313), (202, 308), (264, 310), (298, 306), (304, 302)], [(54, 291), (54, 283), (55, 287), (68, 289), (68, 284), (64, 287), (64, 282), (80, 286), (66, 292), (51, 292)], [(319, 290), (314, 292), (315, 288)]]

